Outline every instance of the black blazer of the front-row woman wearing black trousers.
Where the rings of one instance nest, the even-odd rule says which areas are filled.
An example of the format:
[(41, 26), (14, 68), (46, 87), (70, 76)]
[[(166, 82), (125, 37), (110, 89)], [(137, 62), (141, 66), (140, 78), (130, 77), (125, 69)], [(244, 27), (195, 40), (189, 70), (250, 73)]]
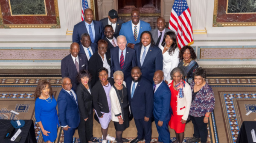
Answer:
[[(90, 92), (92, 92), (92, 87), (90, 82), (88, 82), (88, 86), (89, 86)], [(76, 88), (76, 95), (77, 95), (77, 102), (78, 102), (80, 115), (83, 119), (86, 119), (92, 113), (93, 97), (82, 83), (80, 83)]]

